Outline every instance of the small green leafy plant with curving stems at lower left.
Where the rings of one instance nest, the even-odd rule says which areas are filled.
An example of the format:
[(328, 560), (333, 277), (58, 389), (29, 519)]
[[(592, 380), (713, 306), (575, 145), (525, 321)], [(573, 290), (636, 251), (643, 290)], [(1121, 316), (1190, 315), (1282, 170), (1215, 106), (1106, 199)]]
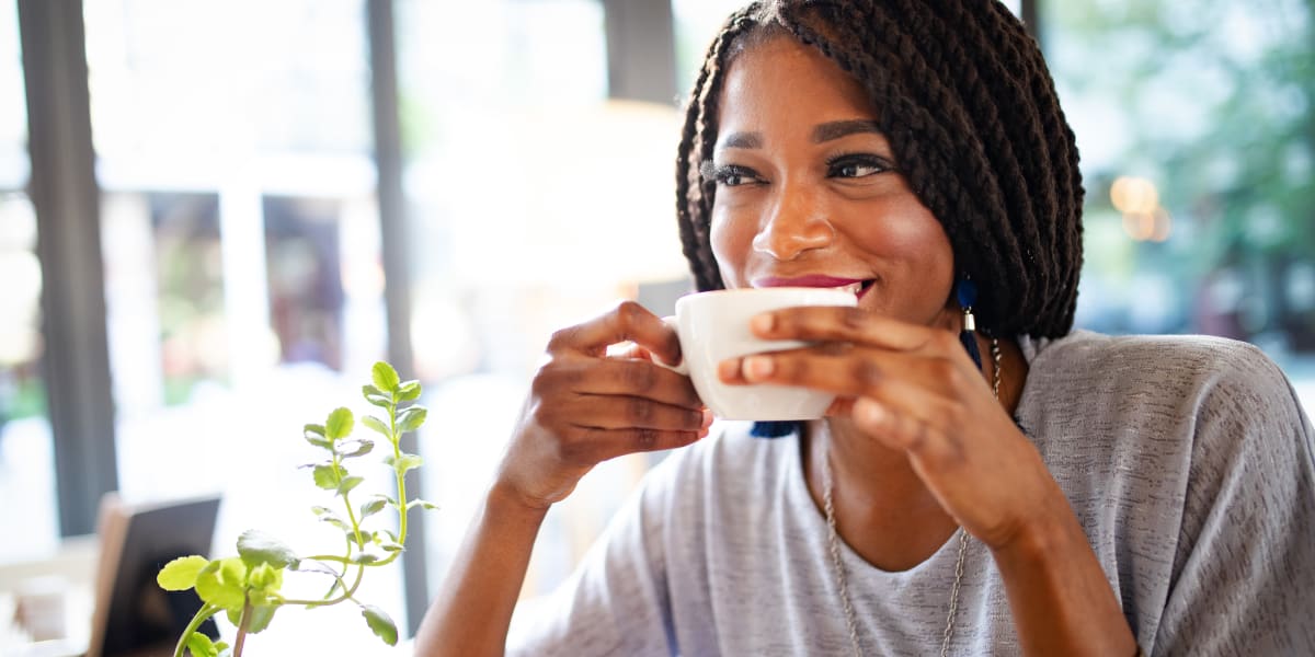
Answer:
[[(427, 411), (418, 405), (404, 407), (419, 397), (421, 385), (418, 381), (400, 381), (388, 363), (375, 363), (371, 380), (371, 385), (362, 388), (366, 401), (383, 409), (387, 418), (366, 415), (360, 423), (384, 436), (392, 448), (384, 456), (384, 463), (396, 476), (397, 497), (375, 494), (359, 507), (352, 506), (351, 491), (364, 477), (348, 473), (346, 464), (371, 453), (375, 442), (348, 439), (355, 427), (351, 410), (334, 409), (323, 424), (306, 424), (306, 442), (323, 449), (327, 459), (306, 464), (305, 468), (312, 468), (317, 486), (331, 490), (334, 497), (341, 498), (346, 519), (325, 506), (312, 510), (321, 522), (342, 530), (346, 539), (343, 553), (297, 556), (277, 539), (252, 530), (238, 537), (237, 557), (210, 561), (193, 555), (170, 561), (155, 578), (160, 587), (168, 591), (195, 589), (203, 602), (200, 611), (179, 637), (175, 657), (183, 657), (185, 652), (191, 652), (193, 657), (241, 657), (246, 636), (268, 627), (279, 607), (295, 604), (313, 608), (348, 600), (360, 607), (366, 624), (375, 635), (388, 645), (397, 644), (397, 625), (388, 614), (362, 603), (355, 593), (367, 569), (387, 566), (401, 555), (406, 544), (408, 511), (417, 506), (434, 507), (422, 499), (406, 499), (406, 472), (418, 468), (421, 457), (402, 452), (398, 444), (402, 434), (425, 423)], [(396, 532), (391, 528), (373, 528), (381, 524), (381, 516), (376, 514), (387, 509), (397, 512)], [(367, 519), (371, 519), (372, 528), (366, 528)], [(320, 599), (285, 598), (280, 590), (287, 570), (323, 574), (333, 578), (333, 585)], [(199, 632), (206, 619), (221, 611), (226, 612), (229, 622), (238, 629), (231, 648), (224, 641), (212, 643), (209, 636)]]

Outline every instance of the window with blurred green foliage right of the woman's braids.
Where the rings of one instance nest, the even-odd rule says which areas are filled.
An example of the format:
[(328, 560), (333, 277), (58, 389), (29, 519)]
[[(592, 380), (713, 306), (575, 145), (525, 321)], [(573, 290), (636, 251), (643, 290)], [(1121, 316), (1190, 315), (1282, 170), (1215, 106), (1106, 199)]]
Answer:
[(1078, 325), (1253, 342), (1315, 407), (1310, 3), (1047, 3), (1043, 34), (1088, 189)]

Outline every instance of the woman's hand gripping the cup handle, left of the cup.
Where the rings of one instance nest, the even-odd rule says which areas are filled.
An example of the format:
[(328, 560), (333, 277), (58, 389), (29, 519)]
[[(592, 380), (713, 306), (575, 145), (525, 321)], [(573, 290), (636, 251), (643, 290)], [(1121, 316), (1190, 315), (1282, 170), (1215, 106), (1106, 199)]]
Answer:
[[(608, 347), (627, 340), (634, 348), (608, 355)], [(713, 417), (693, 384), (651, 356), (680, 363), (680, 342), (671, 326), (634, 301), (555, 332), (497, 486), (530, 507), (547, 509), (598, 463), (706, 436)]]

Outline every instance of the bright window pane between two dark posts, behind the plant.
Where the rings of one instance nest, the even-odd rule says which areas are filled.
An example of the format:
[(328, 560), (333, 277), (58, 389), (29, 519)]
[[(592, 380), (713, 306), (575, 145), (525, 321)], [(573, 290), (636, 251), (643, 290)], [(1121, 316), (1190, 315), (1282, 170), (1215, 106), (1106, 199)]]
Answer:
[[(301, 427), (364, 410), (387, 343), (364, 3), (85, 3), (84, 18), (121, 493), (222, 493), (217, 553), (247, 528), (329, 549)], [(371, 579), (362, 599), (402, 623), (400, 569)], [(334, 615), (360, 624), (291, 610), (252, 649), (377, 649), (363, 624), (305, 644)]]

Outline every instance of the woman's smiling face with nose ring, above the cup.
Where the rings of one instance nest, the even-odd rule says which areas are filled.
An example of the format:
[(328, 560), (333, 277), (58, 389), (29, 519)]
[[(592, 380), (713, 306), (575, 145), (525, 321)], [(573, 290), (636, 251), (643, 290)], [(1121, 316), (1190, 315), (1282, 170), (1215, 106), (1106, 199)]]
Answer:
[(949, 239), (897, 171), (876, 112), (840, 67), (792, 38), (734, 60), (705, 171), (727, 288), (848, 288), (874, 313), (956, 326)]

